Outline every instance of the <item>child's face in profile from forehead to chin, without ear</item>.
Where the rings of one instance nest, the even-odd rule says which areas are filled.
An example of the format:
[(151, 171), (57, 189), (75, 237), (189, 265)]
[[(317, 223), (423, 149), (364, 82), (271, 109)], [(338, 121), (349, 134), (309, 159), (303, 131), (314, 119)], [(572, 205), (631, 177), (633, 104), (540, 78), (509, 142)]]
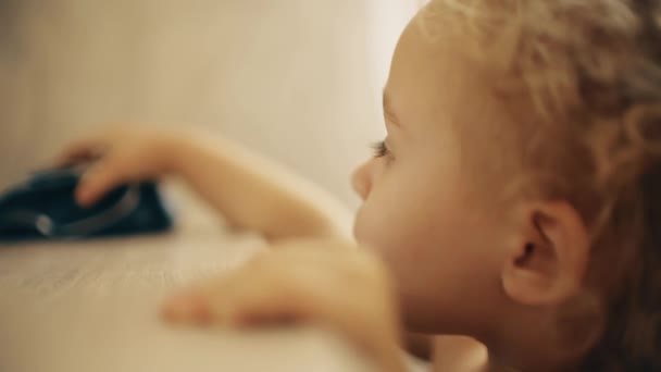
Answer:
[(421, 331), (452, 332), (484, 310), (498, 285), (500, 221), (477, 202), (498, 186), (477, 187), (462, 157), (479, 147), (470, 133), (492, 119), (492, 102), (461, 50), (460, 37), (432, 44), (415, 20), (407, 27), (385, 89), (389, 153), (353, 177), (364, 200), (356, 237), (386, 260), (407, 322)]

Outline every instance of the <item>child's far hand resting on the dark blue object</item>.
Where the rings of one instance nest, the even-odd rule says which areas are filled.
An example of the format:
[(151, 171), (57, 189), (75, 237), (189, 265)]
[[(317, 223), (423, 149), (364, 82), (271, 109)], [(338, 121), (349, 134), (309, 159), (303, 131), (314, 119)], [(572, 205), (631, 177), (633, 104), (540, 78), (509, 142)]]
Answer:
[(114, 187), (155, 178), (170, 171), (177, 137), (167, 132), (113, 129), (66, 146), (58, 166), (95, 160), (76, 189), (76, 200), (90, 206)]

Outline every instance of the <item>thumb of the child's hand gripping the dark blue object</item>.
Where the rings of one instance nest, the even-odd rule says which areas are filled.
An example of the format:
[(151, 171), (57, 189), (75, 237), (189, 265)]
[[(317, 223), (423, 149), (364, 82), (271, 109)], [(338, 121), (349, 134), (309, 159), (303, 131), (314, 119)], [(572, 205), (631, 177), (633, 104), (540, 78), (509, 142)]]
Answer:
[(124, 176), (107, 161), (100, 161), (89, 170), (76, 187), (76, 201), (82, 207), (91, 207), (113, 188), (124, 182)]

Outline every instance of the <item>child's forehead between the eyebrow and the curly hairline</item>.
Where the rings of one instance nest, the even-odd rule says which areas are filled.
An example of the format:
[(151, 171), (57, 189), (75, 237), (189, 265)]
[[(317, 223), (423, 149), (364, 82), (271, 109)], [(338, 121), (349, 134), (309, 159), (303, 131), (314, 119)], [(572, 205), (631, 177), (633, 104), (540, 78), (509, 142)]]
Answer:
[[(483, 64), (464, 50), (466, 36), (450, 32), (431, 38), (419, 14), (395, 51), (386, 87), (388, 104), (411, 124), (479, 126), (497, 107)], [(401, 117), (407, 122), (407, 117)]]

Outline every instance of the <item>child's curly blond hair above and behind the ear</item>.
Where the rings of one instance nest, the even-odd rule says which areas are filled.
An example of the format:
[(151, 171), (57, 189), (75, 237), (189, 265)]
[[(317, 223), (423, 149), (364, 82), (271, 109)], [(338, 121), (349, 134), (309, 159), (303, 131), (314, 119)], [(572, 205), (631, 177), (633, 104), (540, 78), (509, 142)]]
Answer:
[(569, 200), (590, 227), (586, 297), (606, 321), (582, 370), (661, 370), (661, 0), (432, 0), (423, 14), (431, 36), (462, 25), (498, 95), (527, 97), (519, 193)]

